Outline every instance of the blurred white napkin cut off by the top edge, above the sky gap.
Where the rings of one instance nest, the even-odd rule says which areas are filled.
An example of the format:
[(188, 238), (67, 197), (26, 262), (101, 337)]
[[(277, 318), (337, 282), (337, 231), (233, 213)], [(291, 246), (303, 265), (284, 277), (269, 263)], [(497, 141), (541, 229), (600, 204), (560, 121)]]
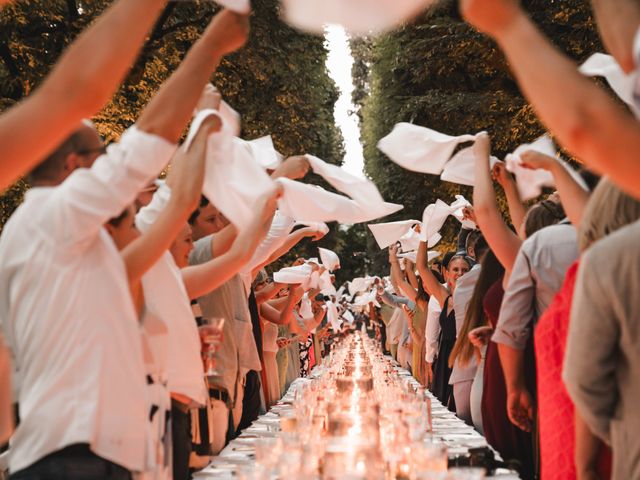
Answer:
[(292, 26), (322, 34), (325, 25), (340, 24), (356, 35), (389, 30), (408, 21), (433, 0), (282, 0)]

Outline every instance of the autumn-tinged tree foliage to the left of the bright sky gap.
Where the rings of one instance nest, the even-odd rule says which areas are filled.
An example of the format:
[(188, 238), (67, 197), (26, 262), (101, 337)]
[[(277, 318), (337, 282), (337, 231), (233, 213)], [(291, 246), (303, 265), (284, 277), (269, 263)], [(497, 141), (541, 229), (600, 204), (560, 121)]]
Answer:
[[(0, 108), (37, 87), (64, 47), (110, 3), (21, 0), (5, 7), (0, 13)], [(277, 0), (254, 0), (248, 44), (227, 57), (212, 80), (242, 115), (244, 138), (271, 134), (286, 156), (306, 152), (340, 164), (342, 138), (333, 120), (338, 92), (325, 68), (323, 39), (282, 23), (277, 5)], [(205, 1), (168, 3), (126, 81), (94, 118), (106, 140), (117, 140), (134, 123), (216, 9)], [(25, 188), (20, 182), (0, 197), (0, 228)]]

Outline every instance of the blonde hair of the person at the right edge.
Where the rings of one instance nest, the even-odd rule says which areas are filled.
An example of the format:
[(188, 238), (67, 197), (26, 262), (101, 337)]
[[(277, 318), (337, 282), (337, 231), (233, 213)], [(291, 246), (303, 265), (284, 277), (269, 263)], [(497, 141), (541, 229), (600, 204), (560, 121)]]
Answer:
[(603, 178), (593, 190), (580, 220), (580, 251), (638, 219), (640, 200), (624, 193), (608, 178)]

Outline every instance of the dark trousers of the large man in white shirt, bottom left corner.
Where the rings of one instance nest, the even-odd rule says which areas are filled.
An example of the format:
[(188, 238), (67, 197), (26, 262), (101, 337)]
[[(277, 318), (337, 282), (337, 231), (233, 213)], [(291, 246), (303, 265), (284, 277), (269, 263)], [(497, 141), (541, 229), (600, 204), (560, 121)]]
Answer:
[(9, 476), (10, 480), (131, 480), (124, 467), (98, 457), (86, 444), (70, 445)]

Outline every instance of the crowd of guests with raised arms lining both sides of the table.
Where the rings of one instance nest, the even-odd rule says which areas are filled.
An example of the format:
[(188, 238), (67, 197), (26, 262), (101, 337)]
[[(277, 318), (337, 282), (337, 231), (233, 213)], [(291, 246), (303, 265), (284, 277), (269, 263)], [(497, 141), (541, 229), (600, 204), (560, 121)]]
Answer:
[[(464, 212), (477, 228), (436, 259), (427, 241), (415, 257), (391, 245), (388, 283), (376, 279), (376, 300), (340, 326), (354, 298), (267, 272), (326, 230), (294, 229), (277, 188), (243, 229), (202, 195), (207, 150), (225, 128), (208, 80), (245, 43), (246, 16), (217, 14), (117, 144), (105, 147), (84, 120), (123, 80), (164, 3), (115, 2), (0, 116), (0, 187), (21, 175), (31, 186), (0, 237), (9, 478), (190, 478), (309, 373), (332, 335), (353, 328), (369, 329), (523, 478), (640, 478), (640, 124), (628, 109), (515, 0), (461, 0), (583, 166), (523, 153), (522, 165), (548, 171), (557, 188), (526, 205), (503, 164), (492, 166), (489, 135), (478, 135)], [(605, 46), (635, 78), (640, 5), (593, 6)], [(296, 156), (268, 173), (300, 179), (309, 168)], [(323, 262), (292, 267), (303, 265), (335, 282)]]

